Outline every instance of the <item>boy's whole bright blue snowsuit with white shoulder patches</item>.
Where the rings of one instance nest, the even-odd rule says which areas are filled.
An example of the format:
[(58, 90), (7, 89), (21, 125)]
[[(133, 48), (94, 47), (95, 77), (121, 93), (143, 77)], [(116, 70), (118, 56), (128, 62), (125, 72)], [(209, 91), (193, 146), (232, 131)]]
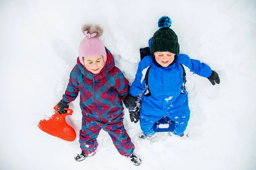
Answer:
[[(190, 111), (183, 77), (193, 73), (210, 77), (211, 68), (198, 60), (190, 59), (186, 54), (175, 55), (174, 64), (159, 67), (151, 56), (144, 57), (138, 66), (137, 74), (130, 88), (132, 96), (141, 97), (140, 127), (146, 135), (155, 132), (154, 123), (163, 116), (175, 122), (175, 135), (181, 135), (187, 127)], [(146, 81), (147, 80), (147, 81)]]

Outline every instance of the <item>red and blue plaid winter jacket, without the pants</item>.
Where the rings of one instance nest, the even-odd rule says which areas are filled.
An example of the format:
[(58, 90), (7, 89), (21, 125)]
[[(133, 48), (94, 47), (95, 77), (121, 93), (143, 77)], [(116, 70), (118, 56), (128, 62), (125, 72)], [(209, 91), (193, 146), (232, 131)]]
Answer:
[(83, 116), (87, 113), (110, 121), (122, 114), (122, 99), (128, 94), (129, 82), (115, 66), (113, 55), (107, 48), (106, 52), (106, 66), (99, 74), (87, 71), (77, 59), (77, 64), (70, 73), (63, 100), (72, 102), (80, 91)]

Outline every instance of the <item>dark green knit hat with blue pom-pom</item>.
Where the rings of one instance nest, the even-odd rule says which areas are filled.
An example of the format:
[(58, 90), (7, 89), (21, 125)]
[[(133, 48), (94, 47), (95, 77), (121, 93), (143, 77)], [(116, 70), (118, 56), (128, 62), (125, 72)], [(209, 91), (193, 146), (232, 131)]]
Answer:
[(151, 40), (150, 53), (154, 55), (154, 52), (171, 52), (173, 54), (180, 53), (180, 45), (178, 43), (178, 37), (171, 28), (172, 20), (163, 16), (158, 20), (158, 27), (160, 28), (154, 33)]

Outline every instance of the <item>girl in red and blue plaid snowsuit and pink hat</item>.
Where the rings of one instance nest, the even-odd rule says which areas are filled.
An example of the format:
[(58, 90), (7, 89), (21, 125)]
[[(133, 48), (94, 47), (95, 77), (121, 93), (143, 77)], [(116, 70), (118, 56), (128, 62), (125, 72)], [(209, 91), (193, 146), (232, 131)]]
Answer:
[(96, 139), (103, 129), (118, 152), (138, 166), (141, 160), (134, 154), (134, 144), (123, 125), (122, 100), (128, 94), (129, 82), (115, 66), (113, 55), (98, 39), (103, 33), (102, 28), (85, 25), (82, 31), (85, 38), (79, 45), (77, 64), (70, 73), (63, 99), (58, 103), (61, 114), (80, 92), (82, 127), (79, 143), (82, 152), (75, 156), (75, 160), (82, 161), (95, 155)]

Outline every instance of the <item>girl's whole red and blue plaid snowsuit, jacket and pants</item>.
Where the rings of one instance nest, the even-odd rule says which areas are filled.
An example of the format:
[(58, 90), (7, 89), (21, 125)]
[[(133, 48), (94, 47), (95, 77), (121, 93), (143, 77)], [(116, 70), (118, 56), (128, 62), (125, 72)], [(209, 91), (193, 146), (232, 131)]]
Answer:
[[(96, 150), (96, 138), (101, 129), (107, 131), (120, 154), (129, 156), (134, 145), (123, 125), (122, 99), (128, 94), (129, 82), (115, 66), (113, 55), (106, 48), (107, 62), (99, 74), (84, 68), (79, 58), (70, 73), (65, 102), (72, 102), (80, 92), (82, 128), (80, 147), (85, 153)], [(88, 146), (88, 147), (87, 147)]]

